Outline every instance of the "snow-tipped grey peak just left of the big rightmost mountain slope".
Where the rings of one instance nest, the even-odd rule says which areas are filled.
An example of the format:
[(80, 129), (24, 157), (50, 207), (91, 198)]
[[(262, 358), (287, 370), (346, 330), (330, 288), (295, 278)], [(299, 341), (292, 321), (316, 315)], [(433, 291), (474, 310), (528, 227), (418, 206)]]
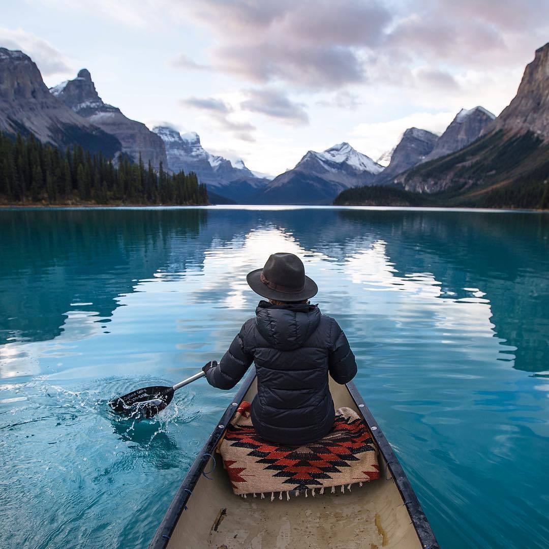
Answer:
[(469, 143), (478, 139), (484, 128), (489, 126), (495, 117), (484, 107), (461, 109), (438, 138), (435, 148), (425, 156), (422, 162), (428, 162), (467, 147)]

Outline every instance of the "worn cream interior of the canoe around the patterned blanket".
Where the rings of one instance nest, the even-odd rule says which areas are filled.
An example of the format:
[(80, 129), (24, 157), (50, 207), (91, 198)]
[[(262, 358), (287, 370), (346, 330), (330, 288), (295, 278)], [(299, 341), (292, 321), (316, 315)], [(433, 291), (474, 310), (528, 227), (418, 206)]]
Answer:
[[(357, 410), (345, 385), (333, 383), (330, 391), (335, 408)], [(251, 401), (256, 382), (244, 400)], [(415, 549), (422, 547), (410, 515), (392, 478), (385, 479), (385, 462), (379, 457), (382, 478), (353, 485), (341, 494), (300, 494), (279, 500), (276, 494), (260, 497), (235, 496), (217, 456), (217, 467), (200, 476), (167, 547), (201, 549)], [(212, 460), (206, 465), (211, 469)], [(389, 473), (388, 473), (389, 474)]]

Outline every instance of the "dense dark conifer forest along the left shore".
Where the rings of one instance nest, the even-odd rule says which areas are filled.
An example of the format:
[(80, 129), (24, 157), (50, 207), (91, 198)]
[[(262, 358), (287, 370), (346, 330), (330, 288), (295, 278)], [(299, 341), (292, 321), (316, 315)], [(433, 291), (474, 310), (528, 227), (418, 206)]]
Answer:
[(60, 150), (31, 134), (0, 133), (0, 204), (208, 204), (194, 173), (157, 172), (80, 145)]

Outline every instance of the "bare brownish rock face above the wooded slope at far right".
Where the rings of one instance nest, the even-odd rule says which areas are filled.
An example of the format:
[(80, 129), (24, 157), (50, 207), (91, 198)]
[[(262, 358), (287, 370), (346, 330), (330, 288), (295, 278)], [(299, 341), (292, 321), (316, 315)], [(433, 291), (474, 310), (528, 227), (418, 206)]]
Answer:
[(534, 60), (526, 65), (517, 95), (503, 109), (492, 129), (533, 131), (549, 138), (549, 42), (536, 50)]

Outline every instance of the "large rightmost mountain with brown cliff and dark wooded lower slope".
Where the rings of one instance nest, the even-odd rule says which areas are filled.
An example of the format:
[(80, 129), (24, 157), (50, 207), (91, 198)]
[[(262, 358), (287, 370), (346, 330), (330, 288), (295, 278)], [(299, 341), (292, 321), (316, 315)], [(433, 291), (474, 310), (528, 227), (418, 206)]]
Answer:
[[(452, 205), (537, 207), (549, 179), (549, 43), (526, 66), (516, 97), (467, 147), (396, 178)], [(530, 204), (530, 205), (528, 205)]]

